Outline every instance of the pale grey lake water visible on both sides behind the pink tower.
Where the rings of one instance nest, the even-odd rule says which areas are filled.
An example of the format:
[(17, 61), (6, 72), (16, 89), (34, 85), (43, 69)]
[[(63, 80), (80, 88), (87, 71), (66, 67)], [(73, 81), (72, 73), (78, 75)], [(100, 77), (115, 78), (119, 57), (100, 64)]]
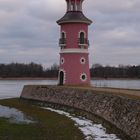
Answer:
[[(0, 80), (0, 98), (19, 97), (24, 85), (56, 85), (57, 80)], [(140, 89), (140, 80), (91, 80), (95, 87)]]

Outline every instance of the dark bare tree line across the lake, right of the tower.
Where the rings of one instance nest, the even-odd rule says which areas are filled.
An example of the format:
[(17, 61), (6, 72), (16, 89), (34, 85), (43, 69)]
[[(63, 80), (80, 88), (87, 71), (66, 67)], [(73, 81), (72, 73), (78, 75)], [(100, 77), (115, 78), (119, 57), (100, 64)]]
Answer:
[(90, 69), (91, 77), (98, 78), (140, 78), (140, 65), (124, 66), (102, 66), (92, 65)]

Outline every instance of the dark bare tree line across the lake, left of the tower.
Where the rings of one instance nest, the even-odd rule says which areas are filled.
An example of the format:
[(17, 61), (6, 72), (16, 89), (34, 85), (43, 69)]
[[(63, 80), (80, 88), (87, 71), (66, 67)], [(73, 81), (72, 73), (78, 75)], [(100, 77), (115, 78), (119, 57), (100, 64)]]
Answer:
[(1, 78), (18, 78), (18, 77), (47, 77), (54, 78), (58, 75), (58, 65), (53, 64), (50, 68), (44, 69), (41, 64), (29, 63), (11, 63), (0, 64)]

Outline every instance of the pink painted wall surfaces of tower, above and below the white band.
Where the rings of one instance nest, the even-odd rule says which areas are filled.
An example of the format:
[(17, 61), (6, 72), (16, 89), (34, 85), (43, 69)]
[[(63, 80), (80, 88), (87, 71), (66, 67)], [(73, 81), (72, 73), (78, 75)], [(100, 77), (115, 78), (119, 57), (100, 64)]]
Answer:
[[(61, 32), (66, 33), (66, 47), (64, 49), (79, 48), (79, 33), (85, 32), (85, 38), (88, 39), (88, 25), (85, 23), (66, 23), (61, 25)], [(88, 49), (88, 46), (86, 46)], [(80, 48), (79, 48), (80, 49)], [(81, 49), (82, 50), (82, 49)], [(81, 64), (80, 59), (84, 57), (85, 64)], [(61, 63), (64, 58), (64, 64)], [(90, 85), (89, 59), (88, 53), (60, 53), (60, 71), (64, 72), (65, 85)], [(87, 79), (82, 81), (80, 76), (86, 74)]]

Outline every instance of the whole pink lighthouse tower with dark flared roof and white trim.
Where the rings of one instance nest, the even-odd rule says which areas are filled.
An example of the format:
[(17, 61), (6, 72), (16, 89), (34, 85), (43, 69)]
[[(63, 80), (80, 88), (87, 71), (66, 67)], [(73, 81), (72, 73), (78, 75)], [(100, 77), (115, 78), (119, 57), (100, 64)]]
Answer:
[(57, 21), (60, 25), (59, 85), (90, 85), (88, 25), (82, 12), (84, 0), (66, 0), (67, 12)]

